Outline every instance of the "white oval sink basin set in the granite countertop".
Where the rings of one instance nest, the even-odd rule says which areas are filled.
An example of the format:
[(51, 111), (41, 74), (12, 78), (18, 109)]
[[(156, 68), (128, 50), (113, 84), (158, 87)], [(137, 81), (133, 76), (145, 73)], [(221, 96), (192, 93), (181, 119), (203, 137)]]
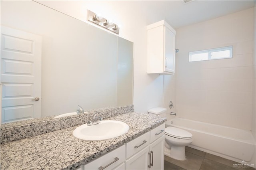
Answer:
[(99, 124), (81, 125), (73, 131), (76, 138), (82, 140), (105, 140), (121, 136), (129, 130), (129, 126), (121, 121), (101, 121)]

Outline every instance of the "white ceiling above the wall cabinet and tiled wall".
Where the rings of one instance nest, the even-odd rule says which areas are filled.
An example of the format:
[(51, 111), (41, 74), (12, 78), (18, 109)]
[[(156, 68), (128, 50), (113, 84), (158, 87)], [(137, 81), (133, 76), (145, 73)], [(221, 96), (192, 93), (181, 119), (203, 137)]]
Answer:
[(162, 13), (168, 23), (172, 23), (174, 28), (180, 28), (252, 8), (255, 2), (255, 0), (193, 0), (184, 4), (182, 0), (167, 0), (147, 1), (145, 4), (147, 11)]

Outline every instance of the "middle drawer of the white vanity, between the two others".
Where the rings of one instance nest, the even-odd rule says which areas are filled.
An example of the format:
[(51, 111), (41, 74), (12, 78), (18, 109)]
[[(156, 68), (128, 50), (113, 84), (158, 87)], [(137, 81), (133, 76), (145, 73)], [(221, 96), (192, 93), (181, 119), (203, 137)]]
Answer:
[(129, 158), (136, 152), (142, 150), (150, 143), (150, 132), (142, 134), (138, 138), (126, 143), (126, 158)]

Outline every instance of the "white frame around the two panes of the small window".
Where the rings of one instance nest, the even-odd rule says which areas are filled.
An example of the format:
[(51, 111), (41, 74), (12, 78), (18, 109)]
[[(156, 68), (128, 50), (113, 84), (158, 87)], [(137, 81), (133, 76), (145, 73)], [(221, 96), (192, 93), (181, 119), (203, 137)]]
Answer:
[(220, 47), (220, 48), (213, 48), (213, 49), (205, 49), (205, 50), (200, 50), (200, 51), (192, 51), (192, 52), (188, 52), (188, 61), (189, 62), (194, 62), (191, 61), (192, 60), (192, 55), (193, 54), (199, 54), (199, 53), (208, 53), (208, 59), (205, 60), (196, 60), (196, 61), (207, 61), (207, 60), (212, 60), (212, 52), (216, 52), (216, 51), (226, 51), (226, 50), (230, 50), (230, 57), (222, 57), (222, 58), (215, 58), (215, 59), (227, 59), (227, 58), (233, 58), (233, 46), (228, 46), (228, 47)]

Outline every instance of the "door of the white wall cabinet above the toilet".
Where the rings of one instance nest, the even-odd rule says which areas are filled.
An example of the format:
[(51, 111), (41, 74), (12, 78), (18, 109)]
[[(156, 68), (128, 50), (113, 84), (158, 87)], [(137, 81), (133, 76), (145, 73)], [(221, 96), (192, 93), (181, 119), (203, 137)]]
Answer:
[(164, 71), (175, 73), (175, 34), (164, 27)]

